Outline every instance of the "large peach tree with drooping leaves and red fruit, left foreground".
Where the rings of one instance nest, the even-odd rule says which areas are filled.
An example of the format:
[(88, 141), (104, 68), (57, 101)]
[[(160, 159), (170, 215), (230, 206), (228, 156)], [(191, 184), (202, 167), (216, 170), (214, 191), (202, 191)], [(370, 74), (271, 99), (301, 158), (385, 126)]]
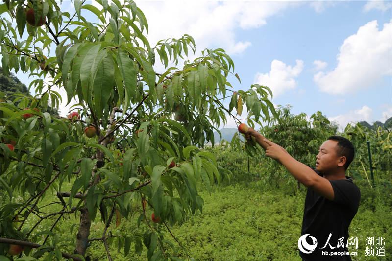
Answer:
[[(190, 35), (152, 46), (135, 2), (97, 3), (74, 0), (73, 14), (55, 1), (1, 4), (2, 70), (28, 74), (35, 93), (1, 97), (2, 258), (22, 246), (25, 256), (84, 260), (102, 243), (109, 260), (114, 244), (125, 256), (146, 248), (148, 260), (176, 260), (163, 231), (202, 212), (198, 186), (211, 191), (225, 173), (205, 142), (215, 143), (226, 114), (240, 122), (244, 104), (252, 124), (275, 113), (268, 87), (233, 91), (229, 76), (241, 81), (223, 49), (186, 60), (196, 52)], [(67, 117), (43, 113), (62, 101), (73, 103)], [(73, 215), (73, 237), (63, 238), (58, 225)], [(116, 235), (122, 218), (138, 229)]]

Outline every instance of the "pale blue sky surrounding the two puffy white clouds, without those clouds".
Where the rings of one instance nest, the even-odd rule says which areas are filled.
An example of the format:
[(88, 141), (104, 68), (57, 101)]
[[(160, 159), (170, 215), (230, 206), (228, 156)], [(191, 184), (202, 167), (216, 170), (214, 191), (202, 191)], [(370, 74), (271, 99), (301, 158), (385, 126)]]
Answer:
[[(340, 119), (344, 125), (347, 121), (362, 119), (370, 122), (385, 120), (384, 112), (391, 116), (391, 74), (377, 78), (371, 85), (343, 94), (322, 92), (313, 79), (316, 73), (313, 62), (326, 62), (327, 66), (322, 71), (334, 70), (344, 40), (356, 34), (361, 26), (376, 20), (378, 29), (382, 30), (383, 24), (390, 23), (391, 9), (384, 12), (374, 9), (364, 12), (365, 4), (362, 1), (338, 2), (320, 13), (310, 5), (303, 5), (284, 10), (259, 28), (237, 30), (238, 39), (246, 39), (252, 44), (241, 55), (234, 57), (244, 85), (254, 81), (255, 71), (268, 73), (273, 60), (295, 66), (295, 60), (300, 59), (303, 61), (303, 69), (297, 77), (293, 77), (296, 87), (277, 95), (273, 99), (275, 104), (291, 104), (295, 114), (305, 112), (311, 115), (320, 110), (328, 117)], [(270, 87), (273, 89), (274, 86)], [(369, 109), (355, 113), (364, 106)], [(341, 117), (336, 119), (337, 116)]]

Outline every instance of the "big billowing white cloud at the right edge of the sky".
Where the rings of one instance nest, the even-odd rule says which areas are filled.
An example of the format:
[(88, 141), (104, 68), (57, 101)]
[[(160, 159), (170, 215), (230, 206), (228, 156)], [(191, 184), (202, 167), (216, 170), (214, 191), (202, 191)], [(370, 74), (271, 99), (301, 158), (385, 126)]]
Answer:
[(346, 38), (340, 47), (337, 67), (314, 75), (320, 90), (330, 94), (355, 92), (374, 86), (391, 74), (391, 30), (390, 22), (379, 31), (374, 20)]

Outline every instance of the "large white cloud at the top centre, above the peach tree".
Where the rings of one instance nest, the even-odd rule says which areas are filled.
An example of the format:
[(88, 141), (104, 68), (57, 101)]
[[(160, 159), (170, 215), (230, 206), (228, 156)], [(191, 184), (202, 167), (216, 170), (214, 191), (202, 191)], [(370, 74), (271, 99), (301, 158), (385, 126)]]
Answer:
[(294, 2), (233, 1), (137, 1), (146, 15), (152, 44), (161, 39), (190, 34), (195, 38), (196, 54), (205, 48), (222, 47), (230, 55), (240, 54), (251, 45), (236, 39), (235, 30), (257, 28), (266, 19)]

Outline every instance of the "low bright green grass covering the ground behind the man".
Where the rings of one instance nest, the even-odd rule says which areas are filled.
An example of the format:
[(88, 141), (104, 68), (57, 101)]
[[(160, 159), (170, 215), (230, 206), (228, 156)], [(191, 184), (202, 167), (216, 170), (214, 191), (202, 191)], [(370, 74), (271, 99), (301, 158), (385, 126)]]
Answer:
[[(259, 184), (259, 185), (258, 185)], [(189, 216), (181, 226), (173, 226), (171, 231), (183, 248), (169, 234), (165, 239), (172, 242), (177, 249), (177, 255), (182, 258), (190, 257), (196, 260), (274, 260), (299, 261), (297, 240), (301, 232), (304, 191), (288, 195), (284, 190), (264, 190), (261, 183), (242, 182), (215, 188), (209, 194), (199, 191), (204, 199), (203, 213)], [(67, 191), (70, 185), (64, 186)], [(383, 199), (382, 194), (375, 190), (363, 189), (360, 209), (350, 226), (350, 236), (357, 236), (359, 240), (358, 257), (353, 260), (388, 260), (392, 255), (392, 220), (389, 201)], [(49, 192), (48, 192), (49, 193)], [(49, 193), (50, 194), (50, 193)], [(54, 192), (53, 192), (54, 194)], [(55, 196), (46, 197), (40, 205), (56, 200)], [(51, 205), (46, 212), (59, 210), (59, 205)], [(122, 218), (119, 227), (115, 227), (115, 220), (108, 232), (112, 235), (134, 236), (143, 231), (147, 225), (142, 222), (141, 229), (137, 228), (137, 217), (140, 214), (139, 205), (134, 205), (134, 216), (128, 220)], [(150, 216), (152, 209), (147, 209)], [(37, 217), (30, 215), (28, 224), (33, 224)], [(41, 229), (49, 229), (54, 220), (42, 222)], [(72, 253), (76, 240), (79, 223), (79, 214), (65, 215), (56, 226), (61, 243), (67, 242), (69, 246), (60, 246), (64, 252)], [(165, 231), (163, 224), (150, 223), (154, 229)], [(70, 234), (70, 229), (73, 232)], [(92, 223), (90, 238), (101, 237), (104, 225), (100, 222), (99, 212)], [(386, 240), (386, 258), (368, 258), (365, 256), (366, 237), (382, 236)], [(63, 241), (64, 240), (64, 241)], [(50, 243), (51, 241), (49, 241)], [(147, 250), (141, 256), (135, 253), (134, 244), (131, 245), (130, 254), (123, 255), (123, 248), (117, 250), (118, 242), (114, 239), (111, 245), (111, 255), (114, 260), (147, 260)], [(164, 243), (168, 247), (168, 243)], [(174, 251), (168, 251), (173, 254)], [(106, 260), (104, 246), (94, 241), (88, 248), (87, 255), (92, 260)]]

